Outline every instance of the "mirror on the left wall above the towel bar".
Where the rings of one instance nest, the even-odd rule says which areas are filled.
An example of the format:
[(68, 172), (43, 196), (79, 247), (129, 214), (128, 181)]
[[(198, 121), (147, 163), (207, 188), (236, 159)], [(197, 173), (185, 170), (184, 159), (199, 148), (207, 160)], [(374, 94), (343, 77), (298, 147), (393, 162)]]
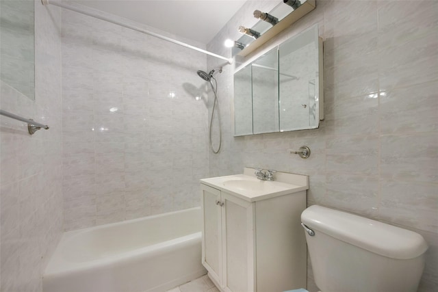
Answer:
[(0, 79), (35, 100), (34, 1), (0, 1)]

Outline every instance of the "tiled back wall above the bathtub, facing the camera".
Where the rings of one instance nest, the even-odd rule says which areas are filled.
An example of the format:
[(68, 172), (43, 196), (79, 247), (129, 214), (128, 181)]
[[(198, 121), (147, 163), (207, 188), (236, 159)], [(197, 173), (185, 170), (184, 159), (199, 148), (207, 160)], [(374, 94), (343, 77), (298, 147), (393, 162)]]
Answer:
[(199, 206), (205, 55), (62, 13), (65, 230)]

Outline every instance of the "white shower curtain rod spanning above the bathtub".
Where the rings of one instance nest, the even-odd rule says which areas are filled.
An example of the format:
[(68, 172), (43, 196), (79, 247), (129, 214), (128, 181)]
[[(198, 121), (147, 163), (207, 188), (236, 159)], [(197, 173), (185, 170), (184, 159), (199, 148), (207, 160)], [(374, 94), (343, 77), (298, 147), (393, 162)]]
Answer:
[(162, 36), (161, 34), (156, 34), (155, 32), (147, 31), (146, 29), (141, 29), (140, 27), (135, 27), (133, 25), (129, 25), (129, 24), (123, 23), (121, 21), (116, 21), (116, 20), (111, 19), (111, 18), (106, 17), (106, 16), (101, 16), (101, 15), (96, 14), (94, 12), (90, 12), (90, 11), (84, 10), (83, 8), (75, 7), (73, 5), (68, 5), (68, 4), (63, 3), (61, 1), (41, 0), (41, 2), (42, 2), (42, 5), (55, 5), (55, 6), (58, 6), (60, 8), (64, 8), (64, 9), (67, 9), (67, 10), (78, 12), (80, 14), (85, 14), (87, 16), (98, 18), (101, 21), (107, 21), (109, 23), (114, 23), (116, 25), (120, 25), (120, 26), (126, 27), (128, 29), (133, 29), (135, 31), (142, 32), (143, 34), (149, 34), (149, 36), (154, 36), (155, 38), (160, 38), (160, 39), (166, 40), (168, 42), (173, 42), (174, 44), (179, 44), (182, 47), (186, 47), (188, 49), (192, 49), (192, 50), (195, 50), (195, 51), (198, 51), (198, 52), (201, 52), (201, 53), (205, 53), (207, 55), (211, 55), (212, 57), (217, 57), (219, 59), (224, 59), (229, 64), (233, 64), (233, 59), (232, 58), (222, 57), (221, 55), (217, 55), (215, 53), (211, 53), (209, 51), (205, 51), (203, 49), (199, 49), (198, 47), (194, 47), (194, 46), (192, 46), (190, 44), (186, 44), (185, 42), (180, 42), (179, 40), (174, 40), (172, 38), (168, 38), (167, 36)]

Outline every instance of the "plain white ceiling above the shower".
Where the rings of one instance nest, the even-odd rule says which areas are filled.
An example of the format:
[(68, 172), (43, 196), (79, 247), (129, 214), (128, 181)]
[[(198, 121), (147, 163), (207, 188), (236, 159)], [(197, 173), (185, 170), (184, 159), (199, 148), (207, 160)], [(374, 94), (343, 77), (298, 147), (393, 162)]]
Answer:
[(207, 44), (245, 0), (73, 0)]

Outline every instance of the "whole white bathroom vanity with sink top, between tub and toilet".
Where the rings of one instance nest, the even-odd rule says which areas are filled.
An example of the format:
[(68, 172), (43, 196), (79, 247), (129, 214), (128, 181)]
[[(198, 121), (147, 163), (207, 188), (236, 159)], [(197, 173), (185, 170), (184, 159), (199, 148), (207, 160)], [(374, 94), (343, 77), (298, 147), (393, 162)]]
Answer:
[(276, 172), (201, 179), (202, 263), (221, 291), (274, 292), (306, 287), (307, 249), (300, 226), (307, 176)]

